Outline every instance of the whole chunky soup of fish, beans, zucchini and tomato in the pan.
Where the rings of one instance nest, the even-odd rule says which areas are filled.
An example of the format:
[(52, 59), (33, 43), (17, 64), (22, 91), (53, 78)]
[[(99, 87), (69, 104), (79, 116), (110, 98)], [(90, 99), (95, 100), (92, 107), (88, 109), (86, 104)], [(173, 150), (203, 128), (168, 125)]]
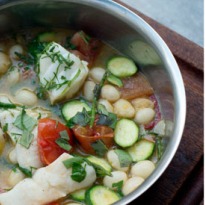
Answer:
[[(0, 41), (0, 204), (112, 204), (163, 152), (154, 90), (132, 59), (83, 31)], [(15, 203), (14, 203), (15, 202)]]

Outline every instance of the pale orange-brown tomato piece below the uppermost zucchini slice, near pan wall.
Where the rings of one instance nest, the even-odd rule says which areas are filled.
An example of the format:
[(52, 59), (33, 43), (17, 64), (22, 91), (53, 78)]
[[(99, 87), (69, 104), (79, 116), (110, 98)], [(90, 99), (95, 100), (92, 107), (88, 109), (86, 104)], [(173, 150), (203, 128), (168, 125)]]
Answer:
[(123, 99), (131, 100), (153, 94), (153, 88), (142, 74), (137, 73), (137, 75), (124, 78), (122, 81), (123, 87), (119, 88), (119, 91)]

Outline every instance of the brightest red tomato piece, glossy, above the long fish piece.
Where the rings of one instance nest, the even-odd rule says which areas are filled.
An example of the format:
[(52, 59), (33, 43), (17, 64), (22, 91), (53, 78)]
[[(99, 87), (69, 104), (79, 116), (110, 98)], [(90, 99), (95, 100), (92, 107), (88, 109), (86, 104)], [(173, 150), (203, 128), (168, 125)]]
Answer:
[[(60, 132), (66, 131), (69, 140), (68, 143), (73, 145), (73, 138), (70, 129), (62, 123), (44, 118), (38, 121), (38, 149), (43, 164), (48, 165), (56, 160), (64, 152), (68, 152), (61, 148), (56, 140), (60, 137)], [(68, 153), (72, 152), (72, 149)]]

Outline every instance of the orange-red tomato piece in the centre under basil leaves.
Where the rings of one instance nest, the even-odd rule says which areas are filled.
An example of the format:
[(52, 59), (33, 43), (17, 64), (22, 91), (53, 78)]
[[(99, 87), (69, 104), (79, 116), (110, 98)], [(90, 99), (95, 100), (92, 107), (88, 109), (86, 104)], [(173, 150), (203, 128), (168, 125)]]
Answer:
[(102, 140), (107, 148), (110, 148), (114, 144), (114, 132), (107, 126), (94, 125), (91, 128), (90, 126), (82, 127), (76, 125), (73, 128), (73, 132), (81, 147), (89, 154), (95, 154), (91, 144), (97, 140)]

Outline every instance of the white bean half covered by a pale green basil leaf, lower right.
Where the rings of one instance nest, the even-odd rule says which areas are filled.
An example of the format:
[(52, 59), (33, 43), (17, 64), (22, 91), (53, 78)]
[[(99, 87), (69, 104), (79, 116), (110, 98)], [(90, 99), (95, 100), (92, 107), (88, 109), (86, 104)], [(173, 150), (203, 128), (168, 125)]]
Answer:
[(114, 150), (110, 150), (107, 153), (107, 160), (110, 163), (110, 165), (115, 168), (116, 170), (120, 170), (120, 171), (127, 171), (129, 169), (129, 167), (121, 167), (120, 166), (120, 160), (117, 156), (117, 154), (115, 153)]

